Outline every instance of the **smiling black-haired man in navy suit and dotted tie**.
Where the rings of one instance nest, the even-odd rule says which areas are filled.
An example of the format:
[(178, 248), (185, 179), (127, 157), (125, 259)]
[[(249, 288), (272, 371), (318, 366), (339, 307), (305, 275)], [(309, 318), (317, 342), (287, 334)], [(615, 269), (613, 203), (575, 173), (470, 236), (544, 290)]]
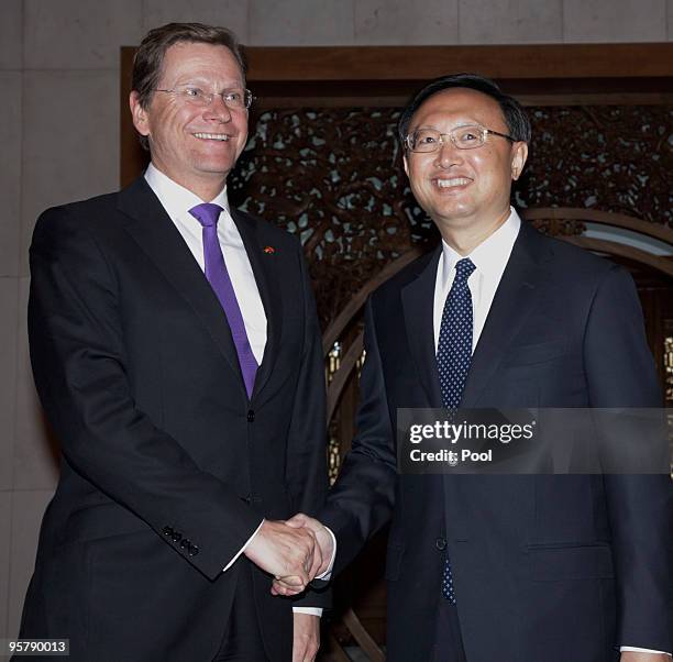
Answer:
[(661, 406), (630, 276), (509, 206), (530, 141), (519, 103), (445, 77), (399, 133), (442, 245), (366, 306), (357, 435), (320, 515), (335, 571), (391, 519), (391, 661), (670, 660), (668, 476), (398, 473), (398, 408)]

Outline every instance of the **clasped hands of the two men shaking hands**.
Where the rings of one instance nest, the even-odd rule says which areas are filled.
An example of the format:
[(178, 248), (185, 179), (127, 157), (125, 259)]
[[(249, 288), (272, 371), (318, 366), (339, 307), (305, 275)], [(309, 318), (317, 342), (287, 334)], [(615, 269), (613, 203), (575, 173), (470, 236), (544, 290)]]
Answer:
[(298, 512), (287, 521), (264, 520), (243, 553), (274, 575), (273, 595), (297, 595), (328, 571), (334, 538), (317, 519)]

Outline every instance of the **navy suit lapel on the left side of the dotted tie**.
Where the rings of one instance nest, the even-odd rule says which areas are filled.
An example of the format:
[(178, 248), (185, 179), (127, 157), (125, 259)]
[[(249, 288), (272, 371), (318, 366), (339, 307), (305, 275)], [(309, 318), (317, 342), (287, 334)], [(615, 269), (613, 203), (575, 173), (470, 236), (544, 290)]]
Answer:
[(441, 244), (419, 264), (418, 277), (401, 290), (407, 339), (430, 407), (442, 406), (442, 394), (434, 352), (434, 285)]

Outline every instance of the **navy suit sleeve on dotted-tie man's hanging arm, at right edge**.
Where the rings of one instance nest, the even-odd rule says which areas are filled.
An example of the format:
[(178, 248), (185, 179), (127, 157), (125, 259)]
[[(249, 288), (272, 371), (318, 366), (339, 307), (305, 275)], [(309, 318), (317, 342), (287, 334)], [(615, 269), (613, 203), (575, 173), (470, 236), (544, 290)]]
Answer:
[[(654, 363), (631, 277), (599, 284), (584, 340), (592, 407), (661, 407)], [(673, 490), (666, 475), (607, 475), (619, 646), (673, 651)]]

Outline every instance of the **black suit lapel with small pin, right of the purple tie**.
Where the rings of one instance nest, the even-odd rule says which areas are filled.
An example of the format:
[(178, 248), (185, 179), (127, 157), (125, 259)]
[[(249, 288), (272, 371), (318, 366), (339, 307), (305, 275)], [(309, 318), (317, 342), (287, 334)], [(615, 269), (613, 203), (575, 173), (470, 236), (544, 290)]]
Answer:
[(231, 217), (239, 229), (247, 252), (266, 315), (266, 347), (264, 349), (262, 365), (255, 376), (254, 398), (268, 382), (278, 355), (278, 343), (283, 335), (283, 300), (278, 273), (278, 261), (283, 260), (283, 256), (277, 255), (275, 251), (265, 252), (267, 247), (274, 249), (273, 239), (268, 238), (269, 244), (265, 244), (263, 228), (250, 217), (236, 209), (231, 210)]

